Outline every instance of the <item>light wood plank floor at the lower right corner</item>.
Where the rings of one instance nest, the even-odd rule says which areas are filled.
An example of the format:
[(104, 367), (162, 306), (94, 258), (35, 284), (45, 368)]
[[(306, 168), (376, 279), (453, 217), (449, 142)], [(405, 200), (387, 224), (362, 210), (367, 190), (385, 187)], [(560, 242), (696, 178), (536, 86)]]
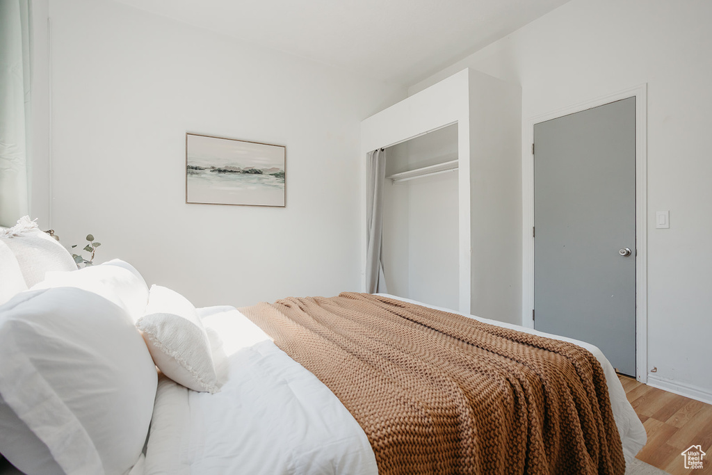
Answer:
[[(619, 376), (623, 389), (648, 434), (636, 456), (669, 474), (712, 474), (712, 405)], [(700, 445), (703, 469), (685, 469), (681, 452)]]

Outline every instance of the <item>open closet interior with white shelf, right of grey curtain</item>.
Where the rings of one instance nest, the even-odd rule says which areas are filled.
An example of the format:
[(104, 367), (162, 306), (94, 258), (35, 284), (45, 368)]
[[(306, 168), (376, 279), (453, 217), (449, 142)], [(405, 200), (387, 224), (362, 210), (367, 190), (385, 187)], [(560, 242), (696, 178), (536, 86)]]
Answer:
[(386, 149), (382, 263), (388, 293), (459, 307), (458, 124)]

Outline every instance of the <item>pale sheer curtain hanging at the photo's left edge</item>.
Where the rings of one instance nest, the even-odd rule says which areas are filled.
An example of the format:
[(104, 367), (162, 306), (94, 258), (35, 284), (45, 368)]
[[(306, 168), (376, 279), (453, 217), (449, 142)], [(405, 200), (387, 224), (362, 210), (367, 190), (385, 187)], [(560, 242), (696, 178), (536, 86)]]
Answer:
[(29, 214), (30, 6), (0, 0), (0, 226)]

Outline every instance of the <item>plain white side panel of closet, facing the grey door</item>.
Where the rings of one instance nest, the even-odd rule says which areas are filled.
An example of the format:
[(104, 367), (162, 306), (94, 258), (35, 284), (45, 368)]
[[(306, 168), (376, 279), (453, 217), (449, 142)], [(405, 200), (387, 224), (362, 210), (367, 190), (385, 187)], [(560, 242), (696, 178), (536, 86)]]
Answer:
[(471, 312), (521, 323), (521, 88), (471, 71)]

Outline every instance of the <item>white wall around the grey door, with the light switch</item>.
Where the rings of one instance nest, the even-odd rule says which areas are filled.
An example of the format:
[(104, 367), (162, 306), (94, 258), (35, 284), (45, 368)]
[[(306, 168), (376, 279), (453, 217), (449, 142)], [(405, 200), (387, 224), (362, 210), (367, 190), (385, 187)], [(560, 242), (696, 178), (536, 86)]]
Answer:
[[(572, 0), (409, 89), (471, 67), (520, 83), (524, 122), (648, 84), (651, 384), (712, 400), (712, 2)], [(657, 210), (670, 229), (655, 229)]]

